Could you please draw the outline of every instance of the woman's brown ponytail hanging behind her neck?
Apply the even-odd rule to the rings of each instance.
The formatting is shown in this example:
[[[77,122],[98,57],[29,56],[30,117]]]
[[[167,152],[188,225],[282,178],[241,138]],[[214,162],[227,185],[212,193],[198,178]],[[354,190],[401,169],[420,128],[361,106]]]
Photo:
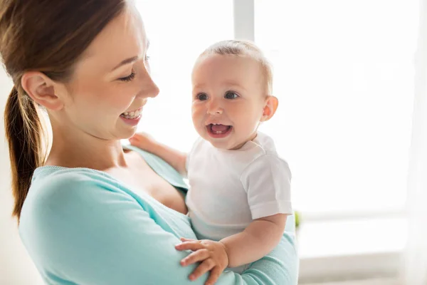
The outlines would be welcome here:
[[[43,164],[42,125],[36,103],[21,87],[12,89],[6,102],[4,125],[9,143],[12,172],[13,216],[21,217],[23,201],[28,194],[33,172]]]

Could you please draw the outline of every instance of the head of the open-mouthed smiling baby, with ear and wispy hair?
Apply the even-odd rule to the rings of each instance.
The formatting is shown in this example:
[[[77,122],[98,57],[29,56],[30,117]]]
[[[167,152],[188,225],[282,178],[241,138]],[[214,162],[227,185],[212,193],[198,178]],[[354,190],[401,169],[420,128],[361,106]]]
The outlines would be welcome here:
[[[272,85],[270,63],[253,43],[214,43],[201,53],[193,69],[194,127],[214,147],[242,147],[278,107]]]

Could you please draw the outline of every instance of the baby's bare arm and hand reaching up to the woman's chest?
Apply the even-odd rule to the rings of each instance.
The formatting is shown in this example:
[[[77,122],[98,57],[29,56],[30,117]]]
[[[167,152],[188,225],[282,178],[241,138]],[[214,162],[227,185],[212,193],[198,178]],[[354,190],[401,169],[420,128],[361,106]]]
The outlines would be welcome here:
[[[137,133],[129,141],[131,145],[162,158],[162,160],[174,167],[179,174],[186,176],[187,154],[185,152],[174,150],[172,147],[157,142],[146,133]]]

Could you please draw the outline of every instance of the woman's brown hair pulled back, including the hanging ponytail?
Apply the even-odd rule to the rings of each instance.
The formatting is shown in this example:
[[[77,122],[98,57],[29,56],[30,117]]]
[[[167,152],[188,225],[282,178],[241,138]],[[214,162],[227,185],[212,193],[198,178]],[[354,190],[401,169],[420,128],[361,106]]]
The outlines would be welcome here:
[[[33,172],[46,157],[39,106],[21,78],[40,71],[53,81],[68,81],[83,51],[125,5],[126,0],[0,0],[0,55],[14,81],[4,124],[18,219]]]

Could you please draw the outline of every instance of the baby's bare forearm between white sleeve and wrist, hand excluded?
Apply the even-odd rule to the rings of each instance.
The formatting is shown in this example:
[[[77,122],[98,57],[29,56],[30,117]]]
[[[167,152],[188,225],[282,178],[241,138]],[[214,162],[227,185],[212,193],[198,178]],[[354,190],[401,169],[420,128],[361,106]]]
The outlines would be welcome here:
[[[228,255],[228,267],[256,261],[271,252],[280,242],[287,214],[255,219],[243,232],[221,239]]]

